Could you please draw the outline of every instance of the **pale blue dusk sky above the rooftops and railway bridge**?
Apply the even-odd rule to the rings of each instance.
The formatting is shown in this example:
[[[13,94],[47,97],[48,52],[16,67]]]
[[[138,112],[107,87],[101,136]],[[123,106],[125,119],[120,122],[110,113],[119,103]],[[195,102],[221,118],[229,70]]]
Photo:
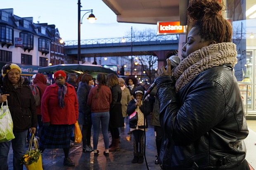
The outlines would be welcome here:
[[[33,22],[55,24],[64,41],[78,40],[77,0],[7,0],[2,1],[0,9],[13,8],[14,15],[33,17]],[[102,0],[81,0],[81,10],[93,9],[97,19],[91,24],[87,18],[90,13],[81,12],[81,40],[115,38],[129,35],[134,30],[155,29],[156,25],[118,23],[116,14]],[[86,11],[87,12],[87,11]]]

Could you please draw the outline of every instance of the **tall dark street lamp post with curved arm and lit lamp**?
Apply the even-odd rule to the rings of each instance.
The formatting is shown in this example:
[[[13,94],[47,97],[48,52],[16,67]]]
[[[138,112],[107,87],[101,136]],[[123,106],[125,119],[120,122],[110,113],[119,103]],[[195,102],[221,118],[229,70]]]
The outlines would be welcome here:
[[[81,21],[83,20],[83,17],[82,17],[82,20],[81,20],[81,11],[89,11],[89,12],[91,12],[91,14],[89,15],[89,17],[87,18],[88,20],[89,20],[89,22],[90,23],[95,23],[95,16],[92,14],[92,9],[88,9],[88,10],[81,10],[81,2],[80,2],[80,0],[78,0],[78,47],[77,47],[77,49],[78,49],[78,52],[77,52],[77,62],[78,62],[78,64],[79,64],[79,61],[80,61],[80,59],[81,59],[81,40],[80,40],[80,38],[81,38],[81,32],[80,32],[80,30],[81,30]],[[89,13],[89,12],[86,12],[85,14],[87,14],[87,13]],[[85,16],[85,14],[83,14],[83,16]]]

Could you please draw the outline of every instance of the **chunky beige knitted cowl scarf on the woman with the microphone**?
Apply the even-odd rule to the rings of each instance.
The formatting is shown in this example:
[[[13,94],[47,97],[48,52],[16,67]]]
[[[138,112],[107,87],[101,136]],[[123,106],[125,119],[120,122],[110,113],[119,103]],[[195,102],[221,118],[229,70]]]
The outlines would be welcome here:
[[[191,53],[173,70],[176,92],[199,73],[215,66],[237,63],[236,45],[232,42],[211,44]]]

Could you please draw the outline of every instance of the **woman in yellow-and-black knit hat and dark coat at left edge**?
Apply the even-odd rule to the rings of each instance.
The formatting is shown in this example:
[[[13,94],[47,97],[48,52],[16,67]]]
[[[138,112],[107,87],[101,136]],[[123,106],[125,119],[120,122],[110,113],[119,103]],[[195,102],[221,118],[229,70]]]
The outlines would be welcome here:
[[[0,102],[8,102],[15,138],[8,142],[0,142],[0,170],[8,169],[7,158],[11,144],[14,153],[13,169],[23,170],[20,158],[25,154],[28,129],[30,133],[36,133],[36,103],[30,87],[24,83],[21,69],[17,64],[9,62],[4,65],[2,77]]]

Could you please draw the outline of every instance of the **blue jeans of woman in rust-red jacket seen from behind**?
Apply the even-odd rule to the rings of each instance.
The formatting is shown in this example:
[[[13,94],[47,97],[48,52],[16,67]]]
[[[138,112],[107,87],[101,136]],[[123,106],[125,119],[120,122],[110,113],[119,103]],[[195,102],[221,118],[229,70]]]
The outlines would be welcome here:
[[[109,112],[92,112],[92,126],[93,126],[93,149],[96,150],[98,146],[100,122],[102,135],[104,138],[105,149],[109,149]]]

